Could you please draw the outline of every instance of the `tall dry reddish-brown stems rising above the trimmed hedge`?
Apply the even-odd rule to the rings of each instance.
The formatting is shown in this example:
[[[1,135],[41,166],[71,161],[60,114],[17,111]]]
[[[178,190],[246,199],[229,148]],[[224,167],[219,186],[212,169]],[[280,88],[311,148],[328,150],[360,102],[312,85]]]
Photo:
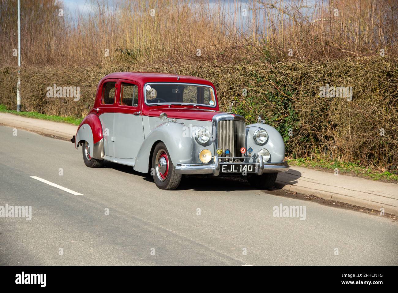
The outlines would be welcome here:
[[[18,42],[16,3],[0,1],[4,65],[17,62],[12,56]],[[122,0],[85,5],[90,12],[76,14],[58,0],[21,1],[22,64],[239,63],[356,58],[378,55],[380,49],[390,56],[397,53],[396,0]]]

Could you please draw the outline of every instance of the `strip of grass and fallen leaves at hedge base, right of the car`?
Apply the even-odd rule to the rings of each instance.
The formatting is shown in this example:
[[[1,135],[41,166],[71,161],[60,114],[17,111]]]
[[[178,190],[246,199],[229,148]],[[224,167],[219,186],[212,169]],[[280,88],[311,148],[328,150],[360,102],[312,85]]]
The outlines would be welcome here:
[[[322,159],[310,160],[308,158],[288,158],[288,161],[291,166],[320,169],[326,172],[336,172],[337,168],[339,174],[346,173],[346,175],[360,176],[371,180],[398,183],[398,174],[394,174],[389,171],[369,169],[354,163],[326,161]]]

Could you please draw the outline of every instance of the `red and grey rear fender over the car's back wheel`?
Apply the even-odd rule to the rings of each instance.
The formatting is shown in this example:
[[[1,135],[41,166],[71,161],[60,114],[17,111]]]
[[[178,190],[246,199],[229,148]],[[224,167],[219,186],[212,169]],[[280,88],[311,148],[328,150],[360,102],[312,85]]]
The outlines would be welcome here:
[[[87,115],[80,123],[75,139],[75,148],[82,141],[87,141],[90,147],[90,156],[101,159],[104,156],[103,133],[101,121],[96,114]]]

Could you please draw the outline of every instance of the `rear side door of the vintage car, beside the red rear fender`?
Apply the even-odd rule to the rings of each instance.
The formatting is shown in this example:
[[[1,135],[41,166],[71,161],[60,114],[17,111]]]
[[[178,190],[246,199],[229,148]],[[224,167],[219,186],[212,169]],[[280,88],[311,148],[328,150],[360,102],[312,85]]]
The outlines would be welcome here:
[[[114,157],[115,97],[117,95],[117,79],[107,79],[101,85],[100,107],[97,112],[102,125],[104,152],[106,156]]]

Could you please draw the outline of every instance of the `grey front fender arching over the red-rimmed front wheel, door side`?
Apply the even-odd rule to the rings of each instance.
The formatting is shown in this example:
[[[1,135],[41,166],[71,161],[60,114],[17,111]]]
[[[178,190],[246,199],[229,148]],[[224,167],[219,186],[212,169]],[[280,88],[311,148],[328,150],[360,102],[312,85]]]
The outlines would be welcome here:
[[[188,134],[188,135],[184,135]],[[181,123],[167,122],[153,129],[142,143],[134,164],[134,170],[142,173],[149,171],[149,160],[155,143],[162,141],[170,154],[174,166],[177,163],[188,164],[199,161],[199,151],[205,148],[196,143],[187,126]],[[211,148],[212,149],[212,148]]]

